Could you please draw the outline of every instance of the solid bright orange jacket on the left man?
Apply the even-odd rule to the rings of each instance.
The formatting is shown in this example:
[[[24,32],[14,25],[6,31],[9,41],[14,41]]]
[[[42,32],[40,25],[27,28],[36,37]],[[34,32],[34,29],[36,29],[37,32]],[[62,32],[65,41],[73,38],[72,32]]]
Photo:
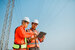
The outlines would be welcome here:
[[[16,44],[25,44],[24,38],[30,37],[30,33],[25,31],[25,28],[21,25],[15,30],[15,39],[14,43]]]

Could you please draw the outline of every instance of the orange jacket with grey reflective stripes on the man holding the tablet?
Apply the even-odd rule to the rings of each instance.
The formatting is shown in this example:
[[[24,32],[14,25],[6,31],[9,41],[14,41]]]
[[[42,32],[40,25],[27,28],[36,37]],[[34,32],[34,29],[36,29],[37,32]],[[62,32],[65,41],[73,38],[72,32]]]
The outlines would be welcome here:
[[[34,38],[34,37],[36,37],[36,36],[39,34],[39,32],[38,32],[37,30],[28,29],[28,31],[29,31],[30,33],[32,33],[32,35],[31,35],[31,37],[30,37],[29,39]],[[36,34],[35,34],[35,33],[36,33]],[[40,39],[40,38],[37,38],[37,39],[35,39],[35,40],[32,40],[31,42],[28,42],[27,47],[28,47],[28,48],[31,48],[31,47],[39,47],[39,44],[38,44],[39,41],[42,42],[43,40]]]

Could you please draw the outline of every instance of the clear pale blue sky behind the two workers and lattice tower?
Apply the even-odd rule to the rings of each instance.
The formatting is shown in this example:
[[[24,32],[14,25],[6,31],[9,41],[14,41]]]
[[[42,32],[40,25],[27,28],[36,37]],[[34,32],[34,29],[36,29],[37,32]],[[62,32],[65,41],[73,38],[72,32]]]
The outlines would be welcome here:
[[[0,0],[0,34],[7,2]],[[40,50],[75,50],[75,0],[15,0],[9,49],[14,43],[14,30],[25,16],[31,22],[38,19],[37,30],[47,32]]]

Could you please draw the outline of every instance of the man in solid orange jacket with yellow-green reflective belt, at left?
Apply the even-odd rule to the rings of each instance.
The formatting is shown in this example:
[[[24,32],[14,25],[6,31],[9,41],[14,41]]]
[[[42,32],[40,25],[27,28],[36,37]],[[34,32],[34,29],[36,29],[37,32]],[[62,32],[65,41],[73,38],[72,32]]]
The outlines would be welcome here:
[[[22,25],[15,29],[13,50],[26,50],[27,38],[30,37],[31,33],[26,32],[25,28],[27,28],[29,22],[30,22],[29,18],[25,17],[22,20]]]

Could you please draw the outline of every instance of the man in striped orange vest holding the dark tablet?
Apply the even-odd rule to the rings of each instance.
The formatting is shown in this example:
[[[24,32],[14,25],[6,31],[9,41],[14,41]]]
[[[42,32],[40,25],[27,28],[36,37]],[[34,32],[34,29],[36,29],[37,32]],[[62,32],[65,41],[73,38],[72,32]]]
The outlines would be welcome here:
[[[32,27],[31,27],[30,29],[27,29],[27,30],[26,30],[26,31],[32,33],[32,35],[31,35],[31,37],[29,38],[29,40],[30,40],[31,38],[36,37],[36,36],[39,34],[39,32],[36,30],[37,25],[38,25],[38,20],[35,19],[35,20],[32,22]],[[45,38],[45,36],[43,36],[43,38],[41,38],[41,39],[40,39],[40,38],[37,38],[37,39],[34,39],[34,40],[32,40],[32,41],[29,41],[27,47],[29,48],[29,50],[39,50],[39,44],[38,44],[38,42],[39,42],[39,41],[40,41],[40,42],[43,42],[44,38]]]

